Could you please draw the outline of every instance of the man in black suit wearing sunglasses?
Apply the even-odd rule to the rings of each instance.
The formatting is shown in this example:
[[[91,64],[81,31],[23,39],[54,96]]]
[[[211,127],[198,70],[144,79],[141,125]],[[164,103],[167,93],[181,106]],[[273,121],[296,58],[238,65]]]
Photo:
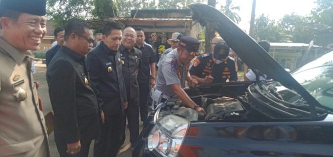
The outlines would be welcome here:
[[[47,68],[60,156],[88,156],[91,140],[100,135],[97,98],[85,68],[93,42],[90,25],[81,19],[69,21],[65,43]]]

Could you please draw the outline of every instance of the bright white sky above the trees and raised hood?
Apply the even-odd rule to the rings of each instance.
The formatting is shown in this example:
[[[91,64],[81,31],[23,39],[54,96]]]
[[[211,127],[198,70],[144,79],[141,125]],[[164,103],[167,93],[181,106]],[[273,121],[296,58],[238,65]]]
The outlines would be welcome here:
[[[219,3],[216,8],[220,9],[221,3],[224,5],[225,0],[217,0]],[[278,21],[285,14],[295,12],[298,15],[309,15],[311,10],[316,7],[315,0],[257,0],[256,1],[256,17],[264,13],[269,19]],[[237,11],[241,16],[241,22],[238,24],[240,28],[249,32],[252,0],[232,0],[234,6],[240,6]]]

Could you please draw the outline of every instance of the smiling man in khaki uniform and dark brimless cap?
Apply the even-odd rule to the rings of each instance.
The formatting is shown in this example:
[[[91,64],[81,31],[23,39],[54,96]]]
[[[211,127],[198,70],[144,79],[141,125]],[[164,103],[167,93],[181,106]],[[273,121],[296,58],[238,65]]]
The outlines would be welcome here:
[[[46,33],[46,0],[0,0],[0,156],[50,156],[31,71]]]

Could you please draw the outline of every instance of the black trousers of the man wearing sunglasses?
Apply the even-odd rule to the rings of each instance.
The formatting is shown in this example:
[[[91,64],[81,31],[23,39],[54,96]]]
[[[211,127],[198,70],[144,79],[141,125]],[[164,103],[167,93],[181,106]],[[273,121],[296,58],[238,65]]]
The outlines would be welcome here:
[[[81,139],[81,150],[79,153],[75,155],[68,154],[67,151],[67,143],[65,142],[56,142],[57,149],[60,157],[88,157],[89,155],[89,147],[91,140]]]

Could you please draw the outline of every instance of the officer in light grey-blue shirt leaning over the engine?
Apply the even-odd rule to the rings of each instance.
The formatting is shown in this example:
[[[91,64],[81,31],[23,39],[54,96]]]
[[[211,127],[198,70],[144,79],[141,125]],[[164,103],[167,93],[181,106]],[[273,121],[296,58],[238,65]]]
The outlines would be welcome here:
[[[197,105],[183,89],[185,80],[192,87],[198,84],[198,81],[193,79],[187,70],[190,61],[201,54],[198,49],[198,39],[183,36],[180,39],[179,47],[163,57],[157,71],[156,88],[153,93],[153,99],[156,103],[177,95],[187,107],[206,114],[205,110]]]

